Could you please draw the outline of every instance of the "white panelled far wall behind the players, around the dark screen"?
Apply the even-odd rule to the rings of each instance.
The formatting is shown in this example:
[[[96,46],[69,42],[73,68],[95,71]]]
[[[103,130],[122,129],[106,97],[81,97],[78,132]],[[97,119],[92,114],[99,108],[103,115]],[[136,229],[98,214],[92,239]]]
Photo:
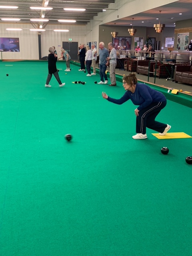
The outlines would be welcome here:
[[[22,28],[21,31],[8,31],[6,28]],[[19,38],[20,52],[3,52],[2,58],[8,60],[38,60],[38,32],[30,31],[34,28],[32,24],[22,23],[3,23],[0,22],[0,37]],[[86,26],[85,25],[47,25],[46,31],[41,32],[41,56],[48,55],[50,46],[55,46],[58,54],[62,48],[62,42],[68,42],[72,38],[72,42],[86,44]],[[69,32],[54,32],[54,29],[68,29]],[[58,48],[58,45],[61,47]],[[78,51],[78,49],[77,49]]]

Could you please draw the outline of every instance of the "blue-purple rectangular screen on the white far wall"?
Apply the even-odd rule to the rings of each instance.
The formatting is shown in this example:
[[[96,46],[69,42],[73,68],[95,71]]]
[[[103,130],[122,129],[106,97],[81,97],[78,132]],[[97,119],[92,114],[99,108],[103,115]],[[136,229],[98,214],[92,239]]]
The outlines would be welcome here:
[[[19,38],[0,37],[0,50],[4,52],[20,52]]]

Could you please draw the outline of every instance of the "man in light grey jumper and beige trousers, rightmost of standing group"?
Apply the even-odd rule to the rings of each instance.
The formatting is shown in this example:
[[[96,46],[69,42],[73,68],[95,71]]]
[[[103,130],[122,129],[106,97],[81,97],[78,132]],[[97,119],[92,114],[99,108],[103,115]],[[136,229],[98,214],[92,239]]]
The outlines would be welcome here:
[[[110,50],[110,55],[107,60],[110,63],[110,80],[111,84],[109,86],[116,86],[116,76],[115,76],[115,68],[117,66],[117,52],[114,48],[113,43],[108,43],[108,49]]]

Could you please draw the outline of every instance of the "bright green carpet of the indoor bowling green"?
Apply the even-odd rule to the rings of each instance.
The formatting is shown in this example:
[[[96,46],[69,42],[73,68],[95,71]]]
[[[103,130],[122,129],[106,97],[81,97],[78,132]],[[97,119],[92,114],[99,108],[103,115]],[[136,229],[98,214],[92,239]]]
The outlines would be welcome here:
[[[101,96],[120,98],[122,76],[70,68],[46,88],[47,61],[0,62],[2,255],[189,256],[192,140],[133,140],[136,106]],[[192,135],[192,96],[148,84],[168,98],[157,119]]]

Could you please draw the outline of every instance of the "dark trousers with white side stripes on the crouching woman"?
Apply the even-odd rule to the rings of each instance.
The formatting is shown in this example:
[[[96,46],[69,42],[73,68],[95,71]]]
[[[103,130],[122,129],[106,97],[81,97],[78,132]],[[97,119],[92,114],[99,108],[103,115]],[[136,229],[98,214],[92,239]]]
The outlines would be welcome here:
[[[146,127],[157,132],[164,132],[167,124],[155,121],[156,116],[166,106],[167,101],[153,102],[138,112],[136,117],[136,133],[146,134]]]

